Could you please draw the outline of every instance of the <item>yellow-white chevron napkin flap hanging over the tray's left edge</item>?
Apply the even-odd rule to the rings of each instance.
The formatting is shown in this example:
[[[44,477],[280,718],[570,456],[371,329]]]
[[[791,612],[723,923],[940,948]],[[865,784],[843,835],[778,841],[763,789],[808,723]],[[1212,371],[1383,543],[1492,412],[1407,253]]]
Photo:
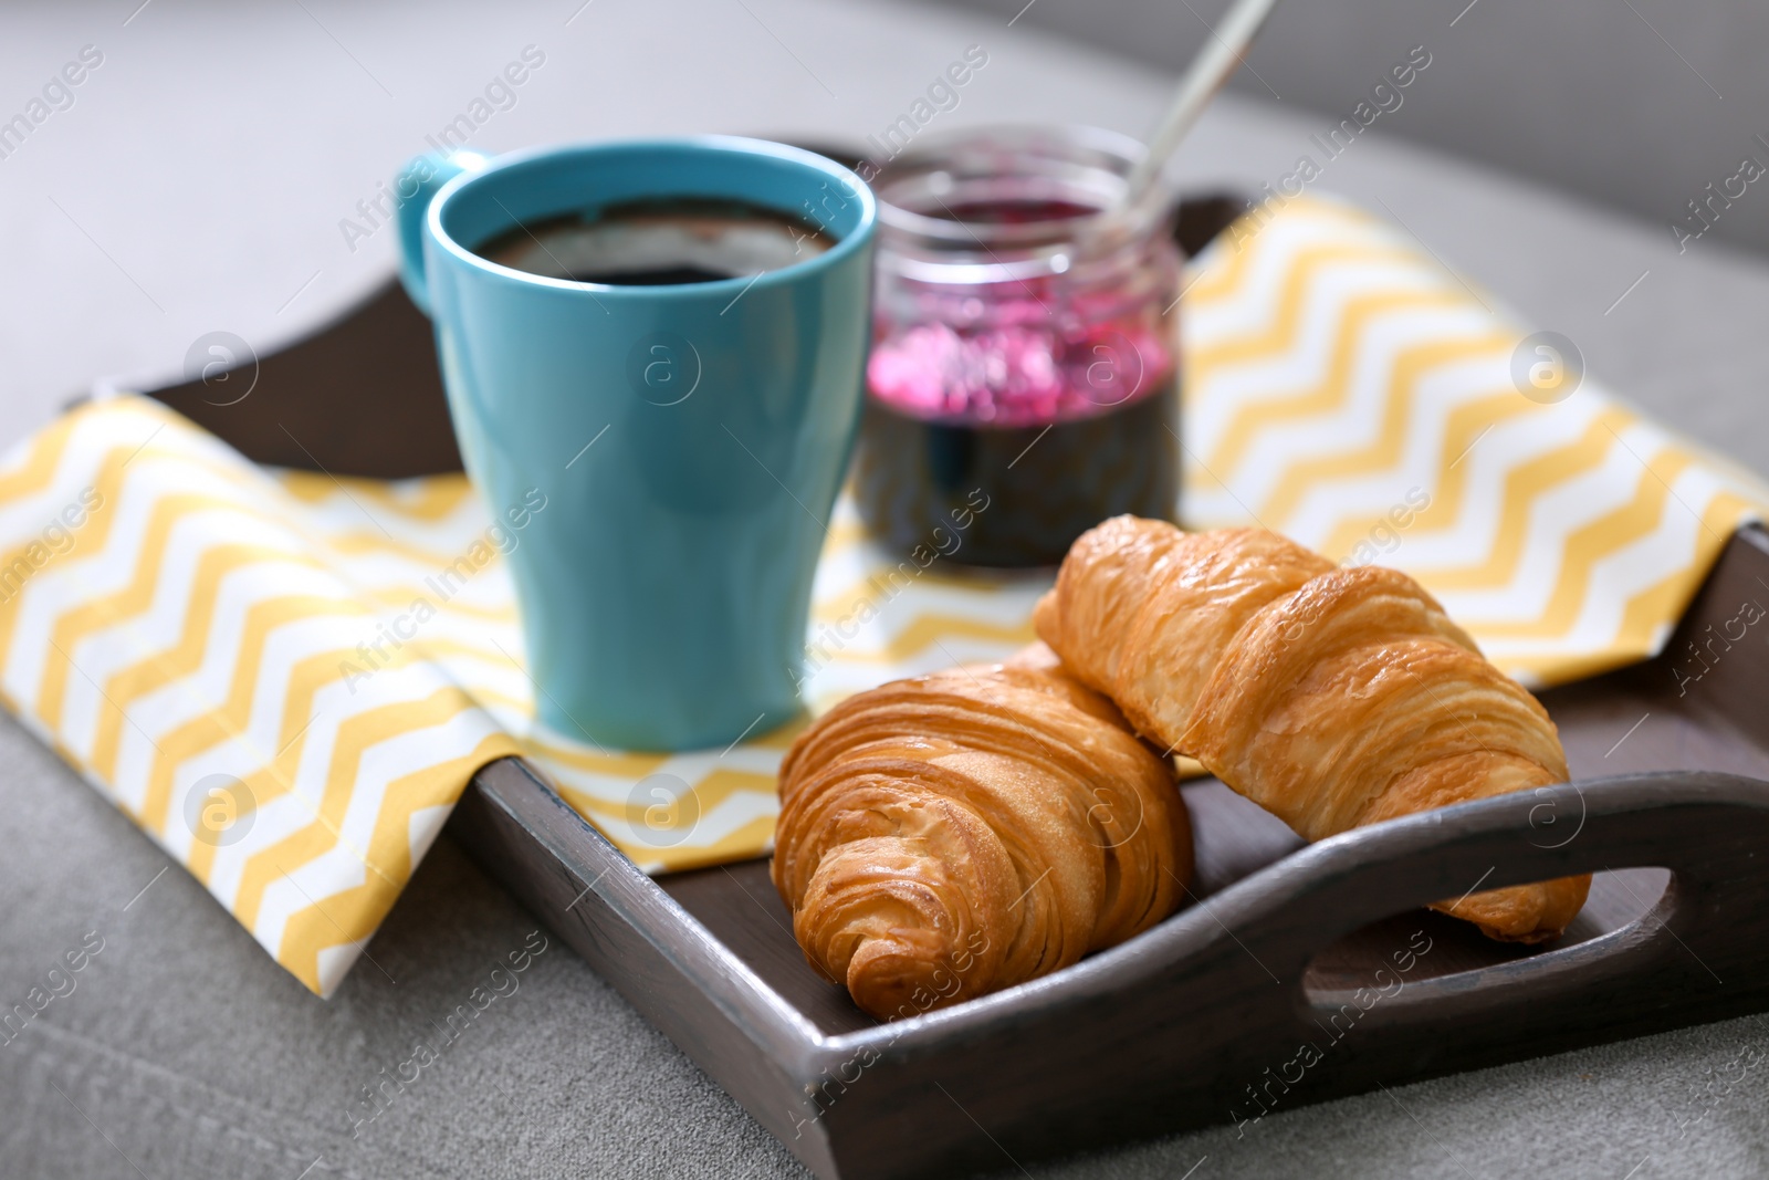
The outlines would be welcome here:
[[[421,517],[387,522],[377,548],[409,563]],[[518,748],[430,662],[345,681],[379,619],[343,556],[276,479],[143,398],[0,464],[5,706],[322,994],[472,771]]]

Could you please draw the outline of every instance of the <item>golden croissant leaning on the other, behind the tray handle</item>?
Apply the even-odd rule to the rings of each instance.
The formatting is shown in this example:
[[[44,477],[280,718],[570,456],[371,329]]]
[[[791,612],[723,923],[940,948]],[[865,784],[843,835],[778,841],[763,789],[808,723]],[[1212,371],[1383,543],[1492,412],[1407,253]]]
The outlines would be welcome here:
[[[1107,520],[1068,550],[1035,624],[1139,732],[1307,840],[1567,778],[1546,709],[1417,582],[1265,529]],[[1535,943],[1589,888],[1562,877],[1436,909]]]

